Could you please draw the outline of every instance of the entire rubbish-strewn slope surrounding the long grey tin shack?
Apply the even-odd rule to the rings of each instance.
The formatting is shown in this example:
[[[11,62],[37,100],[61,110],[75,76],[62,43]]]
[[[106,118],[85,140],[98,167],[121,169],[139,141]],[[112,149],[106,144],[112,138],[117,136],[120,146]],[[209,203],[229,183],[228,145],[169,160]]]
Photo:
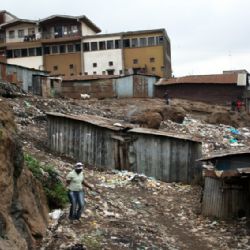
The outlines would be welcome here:
[[[41,162],[56,166],[63,179],[73,161],[46,147],[48,111],[87,113],[134,123],[141,121],[142,113],[159,113],[161,130],[201,139],[204,155],[217,150],[246,150],[250,143],[247,119],[240,119],[246,114],[230,113],[227,107],[172,100],[170,108],[176,110],[178,117],[184,114],[180,122],[177,116],[164,114],[166,105],[160,99],[1,99],[14,110],[24,150]],[[224,114],[221,118],[228,122],[208,123],[208,119],[218,122],[215,110]],[[158,182],[129,172],[85,169],[85,175],[98,192],[86,191],[87,204],[81,221],[70,223],[66,208],[59,221],[51,219],[47,237],[39,248],[250,249],[250,224],[246,218],[226,222],[201,216],[200,187]]]

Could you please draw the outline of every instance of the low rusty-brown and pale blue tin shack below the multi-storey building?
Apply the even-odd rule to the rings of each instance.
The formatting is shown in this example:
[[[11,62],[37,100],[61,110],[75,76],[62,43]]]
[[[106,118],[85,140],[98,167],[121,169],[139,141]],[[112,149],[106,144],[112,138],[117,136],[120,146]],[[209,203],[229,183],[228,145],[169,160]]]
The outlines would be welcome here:
[[[76,99],[80,94],[94,98],[153,97],[157,79],[156,76],[139,74],[64,77],[61,95]]]

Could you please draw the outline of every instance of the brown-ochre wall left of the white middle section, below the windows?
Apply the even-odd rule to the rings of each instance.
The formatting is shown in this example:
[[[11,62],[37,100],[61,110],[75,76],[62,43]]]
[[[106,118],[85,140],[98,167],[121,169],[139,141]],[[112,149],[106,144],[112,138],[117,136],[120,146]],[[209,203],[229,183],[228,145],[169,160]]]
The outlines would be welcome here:
[[[70,65],[73,64],[73,68]],[[55,70],[57,66],[57,70]],[[44,55],[44,69],[53,75],[79,75],[81,72],[81,54],[53,54]]]

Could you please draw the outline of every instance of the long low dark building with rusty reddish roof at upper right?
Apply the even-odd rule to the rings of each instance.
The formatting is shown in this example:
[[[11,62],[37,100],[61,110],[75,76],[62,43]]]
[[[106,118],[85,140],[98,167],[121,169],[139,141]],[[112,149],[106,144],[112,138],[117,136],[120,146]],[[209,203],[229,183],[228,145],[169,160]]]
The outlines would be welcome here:
[[[155,96],[162,98],[168,91],[170,98],[231,105],[244,96],[246,73],[238,71],[223,74],[190,75],[160,79],[155,83]]]

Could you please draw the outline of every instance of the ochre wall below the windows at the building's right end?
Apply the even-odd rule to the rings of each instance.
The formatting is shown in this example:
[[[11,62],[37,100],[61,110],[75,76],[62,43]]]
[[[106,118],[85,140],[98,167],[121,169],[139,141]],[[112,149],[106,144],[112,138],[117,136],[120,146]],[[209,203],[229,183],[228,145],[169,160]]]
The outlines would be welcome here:
[[[150,46],[141,48],[125,48],[124,49],[124,66],[125,69],[144,68],[146,67],[147,74],[155,74],[163,77],[161,67],[164,67],[163,46]],[[150,58],[154,58],[154,62],[150,62]],[[138,60],[134,64],[134,59]],[[155,71],[152,68],[155,68]]]

